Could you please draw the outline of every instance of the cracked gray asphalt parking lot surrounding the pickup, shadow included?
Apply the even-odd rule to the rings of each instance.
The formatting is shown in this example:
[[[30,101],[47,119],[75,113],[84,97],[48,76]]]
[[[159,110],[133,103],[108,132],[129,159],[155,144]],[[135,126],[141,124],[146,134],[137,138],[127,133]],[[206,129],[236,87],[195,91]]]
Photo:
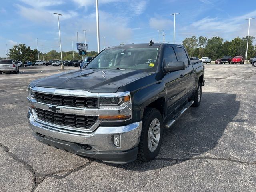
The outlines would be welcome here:
[[[205,68],[200,107],[165,131],[155,160],[126,165],[82,158],[30,134],[27,86],[60,67],[0,75],[0,191],[256,191],[256,68]]]

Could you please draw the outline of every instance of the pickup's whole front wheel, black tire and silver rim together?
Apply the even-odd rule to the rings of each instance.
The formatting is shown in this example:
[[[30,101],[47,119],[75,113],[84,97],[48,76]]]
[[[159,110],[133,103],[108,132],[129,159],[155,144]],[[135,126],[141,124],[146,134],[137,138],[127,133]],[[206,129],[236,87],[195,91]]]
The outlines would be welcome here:
[[[163,119],[155,108],[146,108],[142,120],[142,131],[138,151],[138,160],[150,161],[160,150],[163,138]]]

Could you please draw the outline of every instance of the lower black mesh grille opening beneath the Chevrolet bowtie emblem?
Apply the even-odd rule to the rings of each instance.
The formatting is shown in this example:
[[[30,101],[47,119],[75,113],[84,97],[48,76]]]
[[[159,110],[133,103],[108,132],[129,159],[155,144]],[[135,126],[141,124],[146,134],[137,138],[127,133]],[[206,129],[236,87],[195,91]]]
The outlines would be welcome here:
[[[64,113],[54,113],[36,108],[38,118],[44,122],[56,125],[89,129],[98,119],[98,116],[82,116]]]

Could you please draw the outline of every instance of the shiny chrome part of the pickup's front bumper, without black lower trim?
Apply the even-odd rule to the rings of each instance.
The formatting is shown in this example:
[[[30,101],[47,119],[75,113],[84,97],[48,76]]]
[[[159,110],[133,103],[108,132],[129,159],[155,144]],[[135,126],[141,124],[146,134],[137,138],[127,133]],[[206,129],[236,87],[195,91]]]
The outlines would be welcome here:
[[[100,152],[122,152],[136,147],[140,141],[142,121],[120,127],[98,127],[88,134],[70,134],[66,131],[57,131],[54,124],[42,124],[37,122],[28,112],[28,123],[33,132],[56,138],[63,141],[90,145]],[[112,143],[112,135],[120,135],[120,147]]]

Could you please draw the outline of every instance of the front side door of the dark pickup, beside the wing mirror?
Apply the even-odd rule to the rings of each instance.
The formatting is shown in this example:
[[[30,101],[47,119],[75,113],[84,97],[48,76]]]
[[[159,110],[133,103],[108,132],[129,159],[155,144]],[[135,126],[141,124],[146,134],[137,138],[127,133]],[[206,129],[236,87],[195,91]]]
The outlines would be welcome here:
[[[174,48],[166,47],[164,50],[164,66],[168,66],[169,62],[177,61]],[[170,114],[182,102],[182,92],[184,92],[184,79],[180,76],[184,70],[169,72],[164,76],[167,91],[167,114]]]

